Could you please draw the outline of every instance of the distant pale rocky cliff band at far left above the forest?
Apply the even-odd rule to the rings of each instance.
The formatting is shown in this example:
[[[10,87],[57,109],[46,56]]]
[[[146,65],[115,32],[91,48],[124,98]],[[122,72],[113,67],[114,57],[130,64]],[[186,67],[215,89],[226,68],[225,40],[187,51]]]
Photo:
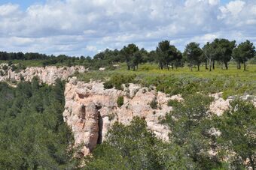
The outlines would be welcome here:
[[[69,76],[72,76],[75,72],[84,73],[84,66],[74,66],[74,67],[27,67],[25,70],[20,72],[15,72],[11,70],[11,67],[8,67],[7,70],[3,70],[5,64],[0,66],[0,70],[5,75],[0,76],[0,82],[6,80],[16,80],[20,81],[24,79],[25,81],[31,81],[34,76],[38,76],[41,82],[47,84],[54,84],[56,79],[68,79]]]

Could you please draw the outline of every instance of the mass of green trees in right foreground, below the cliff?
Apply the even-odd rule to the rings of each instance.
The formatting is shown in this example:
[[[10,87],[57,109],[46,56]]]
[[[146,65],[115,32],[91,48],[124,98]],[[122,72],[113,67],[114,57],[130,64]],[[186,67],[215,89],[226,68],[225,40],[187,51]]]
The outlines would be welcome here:
[[[93,151],[93,157],[86,158],[84,168],[254,169],[256,108],[236,100],[233,109],[215,118],[208,112],[211,101],[211,97],[194,94],[175,103],[162,119],[172,130],[169,142],[157,139],[139,118],[129,126],[114,124],[107,140]]]

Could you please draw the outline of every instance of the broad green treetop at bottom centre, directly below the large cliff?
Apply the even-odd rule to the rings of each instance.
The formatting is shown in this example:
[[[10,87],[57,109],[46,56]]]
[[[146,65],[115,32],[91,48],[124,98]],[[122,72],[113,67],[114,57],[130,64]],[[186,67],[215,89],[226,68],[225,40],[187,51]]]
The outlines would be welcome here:
[[[110,154],[111,153],[111,154]],[[178,161],[177,161],[178,160]],[[129,126],[114,124],[107,139],[86,158],[84,169],[195,169],[182,148],[162,142],[134,118]]]

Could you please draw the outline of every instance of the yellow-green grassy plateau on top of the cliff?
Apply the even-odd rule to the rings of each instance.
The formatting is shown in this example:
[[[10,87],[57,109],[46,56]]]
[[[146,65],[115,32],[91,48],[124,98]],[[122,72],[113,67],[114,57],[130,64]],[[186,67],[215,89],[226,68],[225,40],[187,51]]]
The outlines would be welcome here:
[[[117,70],[104,72],[90,71],[81,73],[78,79],[89,82],[90,79],[107,81],[114,75],[132,76],[136,74],[133,82],[149,87],[154,85],[158,91],[166,94],[191,94],[195,92],[216,93],[224,92],[224,98],[236,94],[256,94],[256,64],[248,64],[247,71],[237,70],[230,64],[228,70],[221,70],[218,65],[209,72],[202,66],[200,71],[194,68],[179,67],[177,70],[159,70],[157,64],[139,65],[139,70],[126,70],[125,64],[120,64]]]

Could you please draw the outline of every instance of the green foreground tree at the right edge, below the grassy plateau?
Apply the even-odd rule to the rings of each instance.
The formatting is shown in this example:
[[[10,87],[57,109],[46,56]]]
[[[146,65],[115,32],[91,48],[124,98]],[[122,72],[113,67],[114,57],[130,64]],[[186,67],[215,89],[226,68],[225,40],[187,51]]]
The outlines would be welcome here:
[[[234,151],[233,166],[242,166],[247,160],[256,167],[256,108],[252,103],[234,100],[232,109],[220,118],[215,118],[216,128],[221,130],[218,143],[226,155]]]

